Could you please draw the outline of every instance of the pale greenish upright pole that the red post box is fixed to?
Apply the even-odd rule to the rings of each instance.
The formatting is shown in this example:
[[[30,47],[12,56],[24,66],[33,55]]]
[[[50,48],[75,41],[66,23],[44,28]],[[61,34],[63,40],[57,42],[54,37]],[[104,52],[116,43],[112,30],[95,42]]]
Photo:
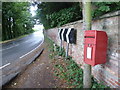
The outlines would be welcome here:
[[[91,0],[83,0],[83,28],[91,30]],[[84,64],[83,87],[91,88],[91,66]]]

